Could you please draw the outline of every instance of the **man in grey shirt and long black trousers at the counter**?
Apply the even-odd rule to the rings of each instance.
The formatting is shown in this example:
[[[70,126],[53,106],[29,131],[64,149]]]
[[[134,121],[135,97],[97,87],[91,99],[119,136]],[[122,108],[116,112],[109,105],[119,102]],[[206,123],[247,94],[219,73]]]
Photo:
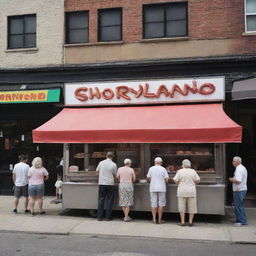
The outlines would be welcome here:
[[[98,213],[97,217],[99,221],[104,217],[104,205],[106,203],[106,221],[111,220],[111,214],[114,204],[114,192],[115,192],[115,176],[117,172],[117,166],[113,162],[114,153],[108,152],[106,159],[101,161],[96,169],[99,172],[99,194],[98,194]]]

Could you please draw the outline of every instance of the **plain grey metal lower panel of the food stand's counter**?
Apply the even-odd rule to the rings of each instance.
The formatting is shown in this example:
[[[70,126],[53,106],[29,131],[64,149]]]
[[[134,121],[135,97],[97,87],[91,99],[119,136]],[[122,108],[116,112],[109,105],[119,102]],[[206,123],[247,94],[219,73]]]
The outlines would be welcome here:
[[[118,186],[116,187],[118,188]],[[118,193],[116,189],[114,209],[118,206]],[[177,185],[168,184],[166,193],[165,212],[178,212]],[[64,182],[63,207],[71,209],[97,209],[98,184],[89,182]],[[76,196],[74,196],[76,195]],[[213,204],[214,202],[214,204]],[[224,215],[225,185],[197,185],[198,213]],[[134,205],[132,211],[151,211],[149,198],[149,184],[134,184]]]

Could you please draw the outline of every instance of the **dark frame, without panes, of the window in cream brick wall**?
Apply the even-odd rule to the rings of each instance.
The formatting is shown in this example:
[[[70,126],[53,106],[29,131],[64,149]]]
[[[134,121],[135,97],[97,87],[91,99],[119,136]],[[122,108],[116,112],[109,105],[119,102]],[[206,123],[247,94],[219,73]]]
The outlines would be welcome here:
[[[25,19],[27,17],[35,17],[35,28],[37,28],[37,15],[36,14],[25,14],[25,15],[13,15],[13,16],[8,16],[7,17],[7,49],[26,49],[26,48],[36,48],[36,44],[37,44],[37,32],[35,29],[35,32],[33,33],[26,33],[25,32]],[[11,20],[14,19],[22,19],[22,33],[11,33]],[[11,37],[14,35],[19,35],[23,37],[23,44],[21,47],[10,47],[10,42],[11,42]],[[25,46],[25,39],[26,39],[26,35],[35,35],[35,45],[34,46]]]

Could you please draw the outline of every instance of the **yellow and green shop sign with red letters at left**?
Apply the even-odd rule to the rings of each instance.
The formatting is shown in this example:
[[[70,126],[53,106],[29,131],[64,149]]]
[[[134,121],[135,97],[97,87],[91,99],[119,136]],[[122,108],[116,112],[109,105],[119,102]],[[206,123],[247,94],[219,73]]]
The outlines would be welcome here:
[[[60,89],[0,91],[0,103],[59,102]]]

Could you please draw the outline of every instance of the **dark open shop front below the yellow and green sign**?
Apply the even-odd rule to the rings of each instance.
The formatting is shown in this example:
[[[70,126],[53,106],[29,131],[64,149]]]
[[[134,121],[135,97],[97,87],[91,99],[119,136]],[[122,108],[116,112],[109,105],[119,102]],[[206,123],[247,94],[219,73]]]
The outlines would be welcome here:
[[[12,170],[20,154],[28,155],[28,164],[34,157],[43,159],[50,177],[46,195],[54,195],[57,170],[63,154],[61,144],[34,144],[32,130],[59,111],[53,104],[1,105],[0,120],[0,194],[13,194]]]

